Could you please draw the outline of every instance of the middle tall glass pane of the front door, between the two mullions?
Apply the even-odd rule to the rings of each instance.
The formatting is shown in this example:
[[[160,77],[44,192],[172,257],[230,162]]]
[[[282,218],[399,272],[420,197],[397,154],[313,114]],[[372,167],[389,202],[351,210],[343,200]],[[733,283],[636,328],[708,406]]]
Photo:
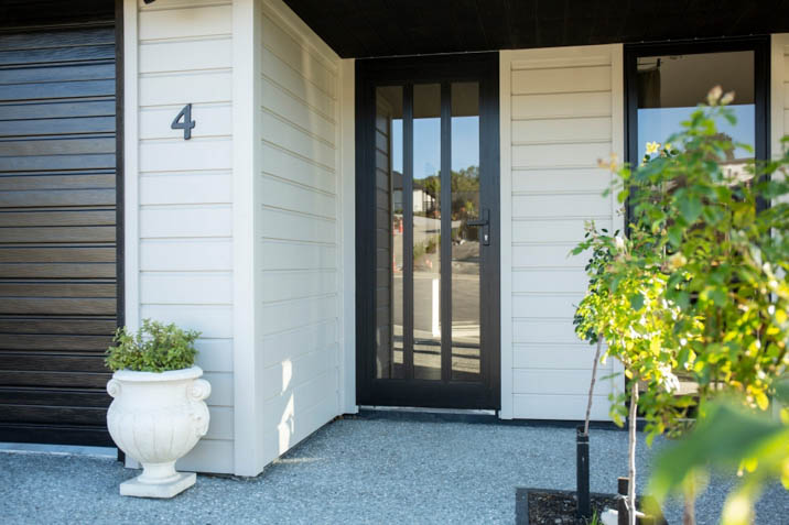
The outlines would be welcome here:
[[[441,85],[413,87],[413,374],[441,380]]]

